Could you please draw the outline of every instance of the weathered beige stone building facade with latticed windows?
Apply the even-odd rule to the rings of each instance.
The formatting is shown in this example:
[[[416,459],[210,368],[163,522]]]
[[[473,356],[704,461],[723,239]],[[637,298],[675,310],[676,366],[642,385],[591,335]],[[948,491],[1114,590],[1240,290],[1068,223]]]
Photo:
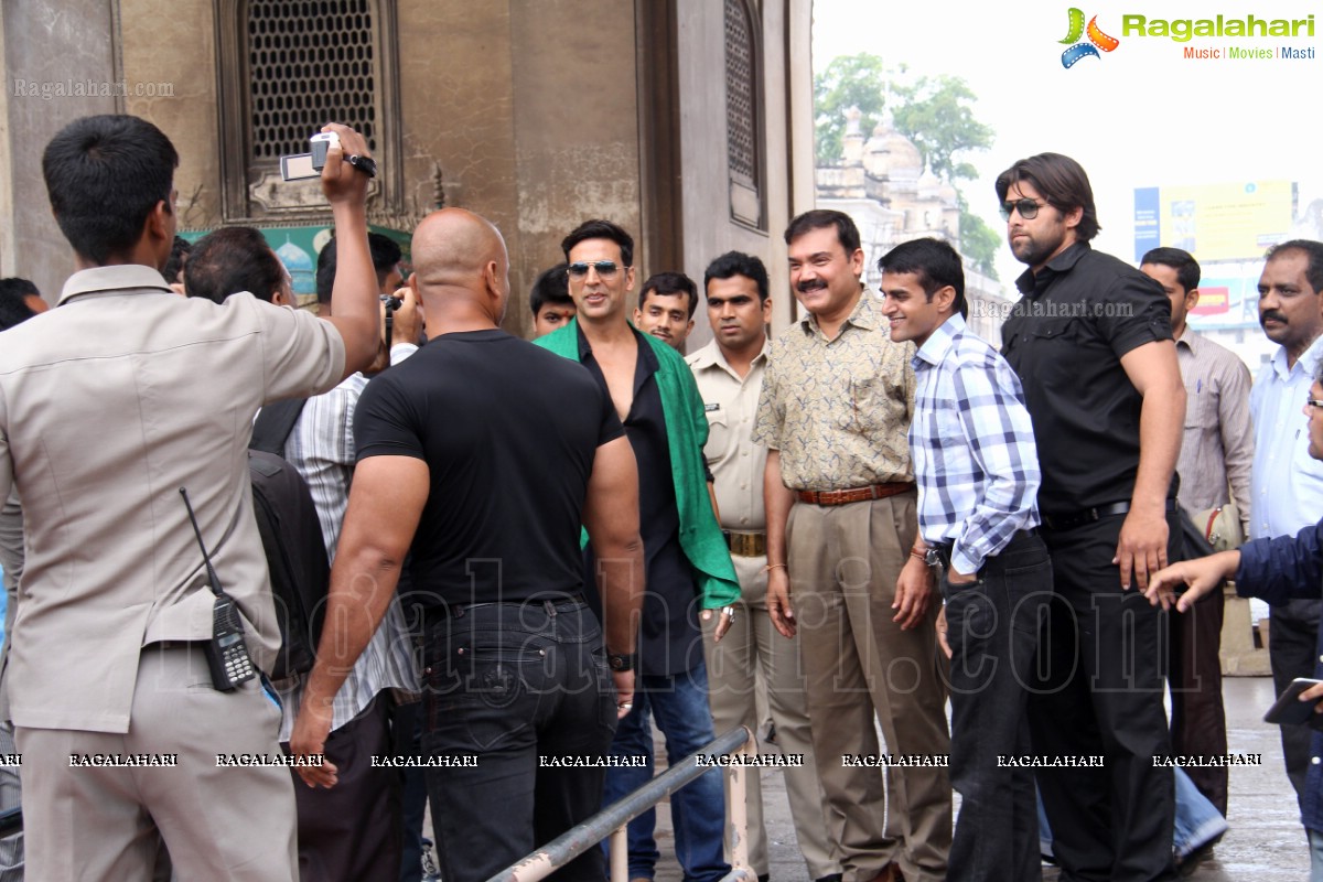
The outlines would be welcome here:
[[[516,333],[531,328],[523,292],[594,216],[635,234],[640,280],[759,255],[779,325],[781,233],[814,202],[811,13],[811,0],[5,0],[0,272],[53,298],[73,270],[40,159],[79,115],[136,114],[169,135],[181,229],[269,238],[328,222],[316,184],[280,181],[278,156],[337,119],[370,130],[381,160],[372,223],[407,233],[445,204],[501,229]]]

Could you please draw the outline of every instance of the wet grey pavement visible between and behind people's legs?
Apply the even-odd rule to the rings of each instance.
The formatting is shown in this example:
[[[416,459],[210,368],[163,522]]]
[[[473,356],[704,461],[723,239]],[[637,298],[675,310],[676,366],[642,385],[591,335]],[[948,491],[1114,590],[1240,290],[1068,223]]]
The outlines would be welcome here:
[[[1213,856],[1188,878],[1195,882],[1301,882],[1308,877],[1308,850],[1299,824],[1295,793],[1282,766],[1282,744],[1275,726],[1262,722],[1273,703],[1273,682],[1266,677],[1237,677],[1224,681],[1226,700],[1228,748],[1233,754],[1262,754],[1263,764],[1234,766],[1230,770],[1230,829]],[[878,735],[881,739],[881,735]],[[658,734],[658,746],[662,746]],[[664,752],[664,751],[663,751]],[[771,840],[773,882],[808,882],[808,873],[795,846],[795,830],[781,775],[762,776],[767,836]],[[663,860],[658,882],[679,882],[675,840],[668,809],[658,812],[658,845]],[[1057,871],[1045,867],[1044,879],[1054,882]]]

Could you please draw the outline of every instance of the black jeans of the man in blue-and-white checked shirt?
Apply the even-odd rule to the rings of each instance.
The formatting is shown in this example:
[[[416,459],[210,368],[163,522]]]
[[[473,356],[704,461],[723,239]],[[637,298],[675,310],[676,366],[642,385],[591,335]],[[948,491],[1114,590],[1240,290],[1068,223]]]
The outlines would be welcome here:
[[[951,644],[951,787],[960,815],[950,882],[1043,878],[1028,698],[1040,620],[1052,600],[1043,540],[1016,533],[972,584],[942,578]]]

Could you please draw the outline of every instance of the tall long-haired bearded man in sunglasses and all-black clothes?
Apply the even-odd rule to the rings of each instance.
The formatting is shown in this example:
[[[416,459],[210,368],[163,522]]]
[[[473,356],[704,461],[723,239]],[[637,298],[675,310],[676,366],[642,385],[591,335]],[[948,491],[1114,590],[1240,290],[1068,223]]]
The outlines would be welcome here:
[[[1172,874],[1175,792],[1164,629],[1143,590],[1180,537],[1176,455],[1185,390],[1171,304],[1148,276],[1089,246],[1089,177],[1040,153],[996,180],[1021,298],[1002,328],[1039,447],[1039,509],[1054,596],[1032,682],[1033,751],[1053,849],[1070,879]],[[1103,756],[1097,767],[1086,758]]]

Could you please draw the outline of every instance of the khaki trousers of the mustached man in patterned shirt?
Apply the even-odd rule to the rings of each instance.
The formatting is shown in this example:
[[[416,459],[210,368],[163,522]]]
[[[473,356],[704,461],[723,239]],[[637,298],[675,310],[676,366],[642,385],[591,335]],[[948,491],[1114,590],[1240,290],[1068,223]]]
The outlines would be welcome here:
[[[950,754],[947,677],[934,632],[941,596],[934,588],[917,627],[892,621],[896,579],[914,542],[914,502],[905,493],[790,510],[787,562],[814,755],[844,882],[869,882],[890,861],[909,882],[937,882],[951,849],[945,767],[888,767],[884,775],[843,762],[878,754],[875,714],[889,754],[937,762]]]

